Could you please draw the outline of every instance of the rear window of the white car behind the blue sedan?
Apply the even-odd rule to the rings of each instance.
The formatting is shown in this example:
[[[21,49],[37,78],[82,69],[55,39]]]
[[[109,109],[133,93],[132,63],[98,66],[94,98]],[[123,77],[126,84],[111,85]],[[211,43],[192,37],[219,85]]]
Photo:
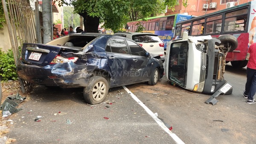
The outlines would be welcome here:
[[[157,43],[161,42],[160,38],[157,35],[134,35],[132,40],[139,43]]]

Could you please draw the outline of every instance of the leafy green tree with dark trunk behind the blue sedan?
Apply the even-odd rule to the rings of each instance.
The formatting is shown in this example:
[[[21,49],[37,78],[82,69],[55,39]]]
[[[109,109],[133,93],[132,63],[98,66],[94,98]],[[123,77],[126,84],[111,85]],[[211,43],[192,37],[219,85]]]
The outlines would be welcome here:
[[[65,0],[54,1],[66,3]],[[177,0],[70,0],[74,12],[84,18],[86,32],[98,32],[100,19],[105,22],[105,28],[115,31],[123,27],[127,15],[136,20],[138,16],[148,17],[162,12],[165,6],[172,8],[176,4]]]

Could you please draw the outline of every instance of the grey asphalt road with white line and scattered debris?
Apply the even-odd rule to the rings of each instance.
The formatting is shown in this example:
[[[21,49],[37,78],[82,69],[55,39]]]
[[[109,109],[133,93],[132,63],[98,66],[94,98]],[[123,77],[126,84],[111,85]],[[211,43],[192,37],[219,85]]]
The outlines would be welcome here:
[[[24,95],[27,100],[19,106],[24,109],[10,117],[14,124],[6,136],[17,144],[255,144],[256,104],[242,96],[246,69],[227,66],[224,76],[233,94],[218,96],[214,106],[204,103],[210,95],[172,86],[166,78],[156,86],[126,86],[141,102],[118,87],[106,99],[113,103],[95,106],[85,104],[82,89],[36,86]],[[144,104],[172,127],[170,133]],[[37,116],[40,121],[34,121]]]

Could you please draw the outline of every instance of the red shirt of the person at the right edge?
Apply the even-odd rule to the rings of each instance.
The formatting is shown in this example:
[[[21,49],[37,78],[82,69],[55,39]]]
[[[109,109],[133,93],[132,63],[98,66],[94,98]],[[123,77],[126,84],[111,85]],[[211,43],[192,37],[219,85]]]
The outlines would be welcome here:
[[[256,43],[250,45],[247,53],[250,53],[247,67],[250,69],[256,69]]]

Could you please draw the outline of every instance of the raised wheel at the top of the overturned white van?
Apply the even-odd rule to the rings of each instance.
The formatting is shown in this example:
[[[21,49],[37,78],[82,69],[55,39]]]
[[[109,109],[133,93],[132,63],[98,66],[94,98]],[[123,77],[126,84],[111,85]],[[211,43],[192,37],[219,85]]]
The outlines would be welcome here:
[[[238,41],[233,35],[221,35],[218,37],[218,40],[221,40],[221,44],[224,45],[224,48],[228,49],[228,52],[232,52],[238,46]]]

